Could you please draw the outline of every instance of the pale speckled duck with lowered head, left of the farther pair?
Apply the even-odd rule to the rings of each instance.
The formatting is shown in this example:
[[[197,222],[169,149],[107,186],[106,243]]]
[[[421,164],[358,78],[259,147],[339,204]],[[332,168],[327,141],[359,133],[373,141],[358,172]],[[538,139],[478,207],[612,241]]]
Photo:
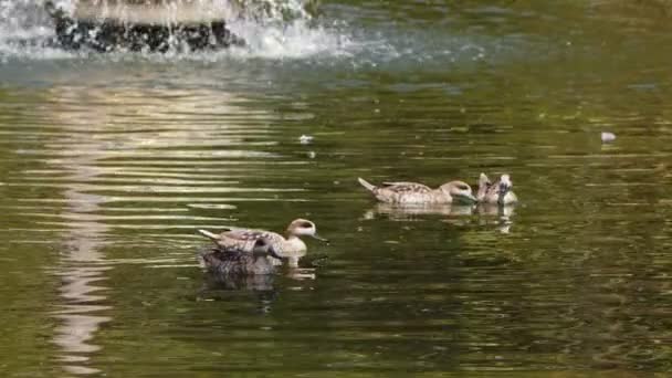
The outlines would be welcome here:
[[[476,198],[471,187],[463,181],[450,181],[438,189],[418,182],[382,182],[376,187],[363,178],[359,183],[374,193],[379,201],[388,203],[474,203]]]

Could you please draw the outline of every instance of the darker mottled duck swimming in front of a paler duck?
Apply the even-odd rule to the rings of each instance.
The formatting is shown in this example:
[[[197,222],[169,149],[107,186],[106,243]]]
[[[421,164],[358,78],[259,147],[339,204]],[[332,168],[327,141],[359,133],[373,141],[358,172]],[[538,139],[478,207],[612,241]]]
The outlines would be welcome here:
[[[275,265],[269,259],[281,259],[266,239],[256,239],[251,251],[237,246],[219,246],[200,253],[200,262],[208,271],[221,275],[273,274]]]

